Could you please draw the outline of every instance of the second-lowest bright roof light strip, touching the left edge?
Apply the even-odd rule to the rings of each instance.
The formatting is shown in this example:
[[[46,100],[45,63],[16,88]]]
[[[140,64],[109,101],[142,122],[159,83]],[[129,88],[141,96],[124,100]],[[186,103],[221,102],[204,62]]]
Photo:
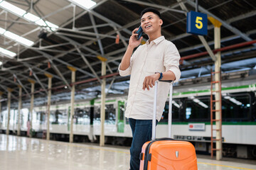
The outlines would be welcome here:
[[[6,38],[14,40],[22,45],[25,45],[25,46],[30,47],[34,43],[33,41],[23,38],[20,35],[16,35],[15,33],[11,33],[9,30],[5,30],[4,28],[0,28],[0,34],[4,35]]]

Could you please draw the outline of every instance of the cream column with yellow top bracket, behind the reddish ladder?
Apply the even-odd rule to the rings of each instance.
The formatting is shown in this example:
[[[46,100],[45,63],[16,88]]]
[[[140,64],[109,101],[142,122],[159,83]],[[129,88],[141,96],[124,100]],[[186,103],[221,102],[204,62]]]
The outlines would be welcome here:
[[[214,48],[219,49],[220,48],[220,26],[222,23],[220,21],[216,20],[213,17],[208,18],[211,23],[214,25]],[[215,71],[213,74],[215,74],[215,81],[212,81],[212,84],[215,84],[215,109],[211,109],[211,113],[215,112],[215,119],[213,119],[213,115],[211,115],[211,124],[213,124],[213,121],[215,122],[215,129],[213,129],[213,125],[211,125],[211,132],[213,134],[213,130],[216,131],[216,138],[213,139],[213,135],[211,137],[211,143],[212,143],[212,157],[213,157],[213,151],[216,151],[216,160],[222,159],[222,106],[221,106],[221,55],[220,52],[217,52],[215,54],[217,60],[215,61]],[[213,107],[213,103],[211,103],[211,108]],[[215,140],[216,147],[213,149],[213,140]]]

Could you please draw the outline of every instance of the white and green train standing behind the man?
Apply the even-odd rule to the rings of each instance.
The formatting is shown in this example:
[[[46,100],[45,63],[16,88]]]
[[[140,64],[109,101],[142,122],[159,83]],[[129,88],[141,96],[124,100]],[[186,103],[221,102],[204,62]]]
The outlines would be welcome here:
[[[223,156],[256,159],[256,84],[248,81],[223,81],[222,137]],[[168,99],[169,100],[169,99]],[[156,127],[156,137],[168,136],[169,101]],[[127,94],[108,96],[105,101],[105,142],[127,145],[132,131],[124,112]],[[73,116],[74,141],[99,142],[100,98],[75,102]],[[174,86],[171,134],[175,140],[186,140],[196,152],[210,154],[210,83]],[[4,108],[4,107],[3,107]],[[21,132],[27,135],[30,108],[21,109]],[[70,103],[50,105],[50,139],[68,142]],[[18,109],[11,108],[11,132],[16,133]],[[0,129],[6,130],[7,109],[1,111]],[[46,137],[46,105],[33,108],[33,136]],[[215,126],[215,125],[213,125]],[[215,133],[213,133],[213,136]]]

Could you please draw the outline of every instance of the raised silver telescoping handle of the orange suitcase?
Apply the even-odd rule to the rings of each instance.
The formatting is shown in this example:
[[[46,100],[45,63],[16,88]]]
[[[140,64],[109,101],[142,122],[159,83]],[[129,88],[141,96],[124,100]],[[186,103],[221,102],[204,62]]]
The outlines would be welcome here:
[[[161,82],[170,83],[170,96],[169,96],[169,115],[168,115],[168,137],[171,138],[171,108],[172,108],[172,91],[173,91],[173,81],[171,80],[159,80]],[[152,120],[152,140],[156,139],[156,101],[157,101],[157,89],[158,89],[158,83],[159,81],[156,81],[155,83],[155,91],[154,91],[154,115]]]

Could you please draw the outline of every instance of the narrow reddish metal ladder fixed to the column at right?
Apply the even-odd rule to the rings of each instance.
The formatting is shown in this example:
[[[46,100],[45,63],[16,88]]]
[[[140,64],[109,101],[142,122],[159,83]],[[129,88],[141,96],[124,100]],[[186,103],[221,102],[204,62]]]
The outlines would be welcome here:
[[[213,78],[213,76],[217,74],[218,75],[218,79],[216,80],[215,78]],[[222,153],[222,105],[221,105],[221,71],[220,72],[212,72],[210,74],[210,148],[211,148],[211,152],[210,152],[210,156],[213,158],[213,152],[214,151],[220,151]],[[216,85],[213,88],[213,85]],[[215,95],[216,94],[216,95]],[[216,98],[218,94],[218,98]],[[213,95],[215,95],[215,98],[213,99]],[[216,108],[216,106],[219,106],[218,108]],[[215,118],[213,118],[213,114],[215,113]],[[219,116],[216,116],[217,114],[219,114]],[[216,118],[219,117],[219,118]],[[213,123],[215,123],[215,129],[213,129]],[[220,124],[219,127],[217,128],[217,124]],[[213,131],[216,131],[216,137],[213,137]],[[217,133],[219,133],[220,137],[217,137]],[[220,148],[217,149],[216,145],[215,147],[213,147],[213,142],[216,143],[219,142]]]

